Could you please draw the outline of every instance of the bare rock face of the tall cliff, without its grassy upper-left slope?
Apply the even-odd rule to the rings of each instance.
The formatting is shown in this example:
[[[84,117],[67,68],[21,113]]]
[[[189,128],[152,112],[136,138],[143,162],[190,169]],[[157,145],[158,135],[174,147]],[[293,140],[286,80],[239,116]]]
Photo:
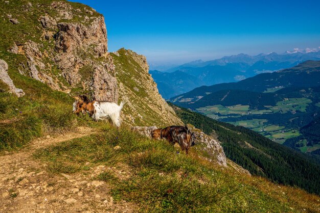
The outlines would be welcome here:
[[[50,11],[38,17],[42,35],[35,36],[39,38],[14,43],[8,49],[26,57],[19,72],[73,96],[85,93],[118,103],[104,17],[88,7],[74,8],[58,1],[50,5]]]

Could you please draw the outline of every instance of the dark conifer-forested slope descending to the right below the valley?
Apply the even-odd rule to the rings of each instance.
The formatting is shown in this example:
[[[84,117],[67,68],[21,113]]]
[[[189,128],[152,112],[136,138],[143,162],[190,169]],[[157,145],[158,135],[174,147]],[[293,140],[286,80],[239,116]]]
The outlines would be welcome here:
[[[226,156],[250,173],[320,193],[320,165],[309,156],[244,127],[218,122],[183,108],[174,107],[174,110],[182,121],[214,135]]]

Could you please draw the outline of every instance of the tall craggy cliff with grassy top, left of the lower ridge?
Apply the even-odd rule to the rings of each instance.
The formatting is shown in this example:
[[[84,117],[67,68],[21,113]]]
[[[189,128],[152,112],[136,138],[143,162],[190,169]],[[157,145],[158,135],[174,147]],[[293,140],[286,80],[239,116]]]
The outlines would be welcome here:
[[[2,49],[16,71],[70,95],[118,102],[102,15],[66,1],[10,1],[1,10],[1,34],[10,37]]]

